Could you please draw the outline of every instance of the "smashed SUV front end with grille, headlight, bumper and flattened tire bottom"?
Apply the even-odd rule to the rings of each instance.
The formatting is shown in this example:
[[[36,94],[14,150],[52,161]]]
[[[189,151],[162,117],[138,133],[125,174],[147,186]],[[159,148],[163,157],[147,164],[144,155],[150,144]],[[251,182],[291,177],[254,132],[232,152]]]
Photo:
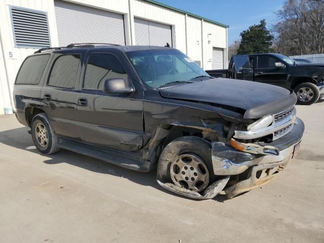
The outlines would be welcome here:
[[[237,129],[237,126],[234,127]],[[224,134],[217,141],[204,136],[211,141],[213,174],[217,178],[205,190],[194,192],[157,178],[159,185],[194,199],[210,199],[223,190],[228,198],[232,198],[259,187],[271,181],[296,156],[304,124],[296,118],[295,107],[292,107],[262,117],[246,126],[243,131],[236,129],[229,129],[232,133],[227,133],[227,139]],[[221,129],[218,132],[220,131]]]

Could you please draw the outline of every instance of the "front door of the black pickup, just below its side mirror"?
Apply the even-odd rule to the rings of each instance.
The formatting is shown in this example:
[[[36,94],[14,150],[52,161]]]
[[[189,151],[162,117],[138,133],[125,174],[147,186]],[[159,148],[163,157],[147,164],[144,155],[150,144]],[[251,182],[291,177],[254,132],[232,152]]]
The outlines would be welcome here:
[[[287,66],[283,68],[276,67],[276,62],[281,61],[275,56],[258,55],[257,65],[254,68],[254,80],[260,83],[287,88],[288,68]]]

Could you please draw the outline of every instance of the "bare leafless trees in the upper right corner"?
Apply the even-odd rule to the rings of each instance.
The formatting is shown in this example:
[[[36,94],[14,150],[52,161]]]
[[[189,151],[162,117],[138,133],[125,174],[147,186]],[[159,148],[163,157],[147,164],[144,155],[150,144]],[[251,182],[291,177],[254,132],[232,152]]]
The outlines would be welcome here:
[[[277,52],[286,55],[324,53],[324,0],[289,0],[272,27]]]

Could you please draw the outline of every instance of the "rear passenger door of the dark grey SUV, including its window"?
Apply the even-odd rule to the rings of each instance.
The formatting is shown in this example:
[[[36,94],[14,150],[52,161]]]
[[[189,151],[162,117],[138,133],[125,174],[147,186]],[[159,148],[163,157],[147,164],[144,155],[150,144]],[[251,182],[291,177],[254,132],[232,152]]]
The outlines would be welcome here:
[[[60,136],[78,138],[76,100],[84,54],[75,50],[54,54],[41,91],[43,108]]]

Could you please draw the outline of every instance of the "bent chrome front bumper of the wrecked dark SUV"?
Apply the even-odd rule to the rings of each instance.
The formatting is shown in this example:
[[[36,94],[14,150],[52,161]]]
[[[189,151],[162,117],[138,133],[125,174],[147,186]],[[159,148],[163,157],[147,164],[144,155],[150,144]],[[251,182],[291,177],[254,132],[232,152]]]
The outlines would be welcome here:
[[[286,136],[269,143],[279,150],[278,155],[258,155],[239,151],[221,142],[212,143],[212,162],[215,175],[238,175],[250,167],[272,163],[285,164],[292,158],[294,147],[300,142],[304,123],[296,118],[293,130]]]

